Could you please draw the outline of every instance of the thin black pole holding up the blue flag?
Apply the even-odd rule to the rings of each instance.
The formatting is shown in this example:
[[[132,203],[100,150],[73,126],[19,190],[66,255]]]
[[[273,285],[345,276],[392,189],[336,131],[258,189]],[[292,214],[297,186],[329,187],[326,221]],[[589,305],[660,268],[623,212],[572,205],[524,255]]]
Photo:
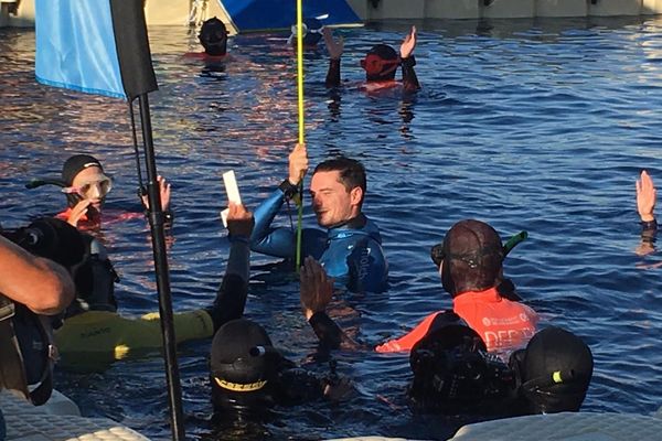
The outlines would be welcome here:
[[[161,333],[163,335],[163,357],[166,359],[166,379],[168,380],[168,397],[170,399],[172,439],[184,441],[182,388],[177,363],[177,340],[174,337],[174,322],[172,319],[170,273],[168,271],[166,235],[163,233],[164,215],[161,207],[159,183],[157,181],[157,161],[154,158],[149,100],[147,94],[138,95],[138,99],[140,104],[142,143],[145,147],[145,166],[147,168],[147,197],[150,207],[148,212],[149,226],[151,228],[154,270],[157,272],[157,288],[159,290],[159,314],[161,316]]]

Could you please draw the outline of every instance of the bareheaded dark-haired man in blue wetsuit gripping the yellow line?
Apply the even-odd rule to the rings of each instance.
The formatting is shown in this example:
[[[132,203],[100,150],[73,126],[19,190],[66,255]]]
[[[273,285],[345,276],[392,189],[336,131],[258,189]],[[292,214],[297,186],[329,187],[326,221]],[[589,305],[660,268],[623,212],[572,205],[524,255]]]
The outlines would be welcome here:
[[[289,155],[288,179],[255,211],[250,249],[269,256],[295,257],[296,233],[270,225],[282,203],[297,194],[307,170],[306,146],[297,144]],[[340,157],[314,169],[310,182],[312,209],[327,232],[305,228],[301,256],[319,260],[338,286],[352,292],[381,292],[387,287],[388,265],[380,229],[361,211],[365,190],[365,169],[356,160]]]

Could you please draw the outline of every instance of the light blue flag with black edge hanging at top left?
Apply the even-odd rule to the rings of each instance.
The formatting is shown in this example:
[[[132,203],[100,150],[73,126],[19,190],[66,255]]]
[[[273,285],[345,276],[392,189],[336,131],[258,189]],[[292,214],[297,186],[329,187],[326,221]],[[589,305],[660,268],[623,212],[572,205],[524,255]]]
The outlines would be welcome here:
[[[157,89],[139,0],[35,0],[36,80],[132,100]]]

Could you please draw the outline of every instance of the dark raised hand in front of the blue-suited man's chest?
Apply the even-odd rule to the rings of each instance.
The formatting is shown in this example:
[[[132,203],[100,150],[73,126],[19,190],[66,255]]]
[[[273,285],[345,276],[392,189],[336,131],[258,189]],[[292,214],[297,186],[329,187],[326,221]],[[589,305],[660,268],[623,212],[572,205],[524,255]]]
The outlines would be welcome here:
[[[324,311],[333,295],[333,279],[327,276],[324,268],[312,257],[307,257],[301,267],[301,309],[306,320]]]

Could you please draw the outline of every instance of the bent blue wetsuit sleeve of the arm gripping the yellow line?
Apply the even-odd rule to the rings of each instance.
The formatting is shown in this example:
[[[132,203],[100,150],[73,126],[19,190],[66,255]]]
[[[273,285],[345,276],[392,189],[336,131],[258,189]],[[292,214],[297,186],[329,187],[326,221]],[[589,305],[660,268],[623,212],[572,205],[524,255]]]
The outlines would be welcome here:
[[[280,211],[285,195],[276,190],[254,212],[255,227],[250,235],[250,249],[268,256],[290,258],[296,252],[296,237],[290,228],[271,228],[274,217]]]

